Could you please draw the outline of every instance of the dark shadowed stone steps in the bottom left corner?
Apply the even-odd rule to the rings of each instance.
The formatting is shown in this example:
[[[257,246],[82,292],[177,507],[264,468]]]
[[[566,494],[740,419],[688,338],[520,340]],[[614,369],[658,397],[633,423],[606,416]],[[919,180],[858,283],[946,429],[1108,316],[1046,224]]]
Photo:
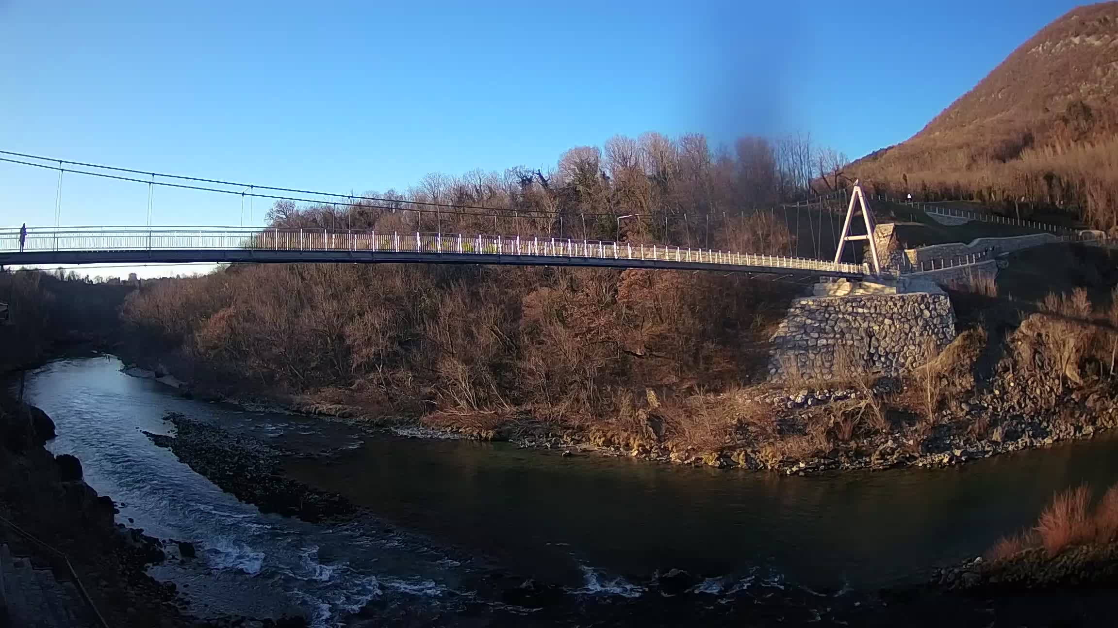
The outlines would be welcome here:
[[[0,544],[0,627],[96,628],[91,615],[77,586]]]

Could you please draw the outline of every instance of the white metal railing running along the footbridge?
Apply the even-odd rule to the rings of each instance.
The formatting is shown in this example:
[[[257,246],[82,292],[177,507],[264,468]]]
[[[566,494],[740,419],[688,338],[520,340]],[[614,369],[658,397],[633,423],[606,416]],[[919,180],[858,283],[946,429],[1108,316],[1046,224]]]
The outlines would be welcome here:
[[[359,229],[245,229],[239,227],[78,227],[29,229],[20,246],[18,229],[0,230],[0,253],[113,250],[307,250],[512,255],[561,258],[628,259],[724,266],[755,266],[869,274],[863,264],[730,253],[657,244],[610,242],[491,234],[430,234]],[[215,261],[220,258],[215,257]]]

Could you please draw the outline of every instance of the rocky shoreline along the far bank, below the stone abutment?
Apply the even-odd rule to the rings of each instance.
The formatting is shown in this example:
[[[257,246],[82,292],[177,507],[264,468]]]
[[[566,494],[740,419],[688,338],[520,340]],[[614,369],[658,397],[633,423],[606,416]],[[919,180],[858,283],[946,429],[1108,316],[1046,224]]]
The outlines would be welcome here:
[[[1108,388],[1053,394],[1043,387],[1030,386],[1035,382],[1018,384],[1011,374],[987,383],[983,392],[972,390],[967,397],[947,403],[936,413],[935,426],[920,441],[912,438],[911,430],[903,429],[906,417],[901,416],[896,419],[902,424],[901,428],[891,432],[831,443],[830,450],[825,453],[794,457],[774,455],[767,443],[747,443],[743,439],[728,441],[711,450],[673,448],[657,443],[654,437],[634,446],[632,440],[618,443],[616,435],[601,430],[563,428],[534,421],[531,417],[521,417],[494,429],[432,425],[419,417],[375,417],[359,407],[338,403],[324,407],[310,399],[224,398],[197,391],[188,382],[158,370],[132,365],[124,372],[155,379],[188,397],[221,401],[245,410],[314,416],[408,438],[500,440],[523,448],[559,450],[565,455],[632,457],[663,464],[743,468],[786,475],[894,467],[941,468],[1060,441],[1093,438],[1118,427],[1118,396]],[[777,422],[794,426],[825,419],[844,403],[901,396],[910,388],[911,382],[898,378],[883,379],[873,387],[862,389],[767,386],[758,387],[756,396],[749,401],[771,412]],[[1073,415],[1076,417],[1069,420]],[[911,417],[908,419],[911,420]],[[980,432],[973,428],[976,424],[985,426]]]

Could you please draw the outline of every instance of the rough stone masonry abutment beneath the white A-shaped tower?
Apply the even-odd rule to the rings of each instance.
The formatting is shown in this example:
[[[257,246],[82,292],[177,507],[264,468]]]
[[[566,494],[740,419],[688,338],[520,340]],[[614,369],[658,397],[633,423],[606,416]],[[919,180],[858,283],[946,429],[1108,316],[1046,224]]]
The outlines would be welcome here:
[[[922,363],[929,341],[942,349],[954,337],[942,293],[797,298],[770,339],[769,377],[830,380],[849,367],[897,375]]]

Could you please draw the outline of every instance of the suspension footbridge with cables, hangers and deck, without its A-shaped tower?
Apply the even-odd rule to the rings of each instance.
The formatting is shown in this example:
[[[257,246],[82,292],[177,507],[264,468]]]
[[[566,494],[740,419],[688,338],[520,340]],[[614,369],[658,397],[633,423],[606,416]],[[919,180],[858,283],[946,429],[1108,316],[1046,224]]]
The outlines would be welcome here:
[[[617,225],[617,240],[620,240],[623,219],[642,219],[639,215],[577,215],[565,217],[559,213],[518,211],[517,209],[494,209],[471,204],[452,204],[429,200],[383,199],[369,196],[328,194],[309,190],[295,190],[264,185],[252,185],[233,181],[199,179],[173,174],[160,174],[92,163],[54,160],[36,155],[0,151],[0,162],[30,170],[57,172],[55,183],[54,226],[31,226],[29,228],[0,229],[0,266],[38,266],[89,264],[221,264],[221,263],[345,263],[345,264],[486,264],[517,266],[584,266],[610,268],[664,268],[689,270],[739,272],[766,274],[794,279],[809,279],[822,276],[862,277],[871,274],[871,267],[863,264],[841,261],[841,249],[834,260],[823,259],[823,219],[817,227],[807,220],[811,237],[811,255],[805,257],[799,247],[789,240],[789,255],[774,255],[767,251],[738,251],[694,246],[675,246],[654,242],[656,236],[646,234],[628,241],[606,241],[590,239],[594,234],[587,229],[587,218]],[[139,227],[63,227],[64,180],[78,177],[121,182],[125,185],[143,185],[148,192],[146,221]],[[302,202],[311,207],[329,207],[331,221],[344,217],[347,228],[331,228],[315,225],[292,226],[277,221],[267,227],[174,227],[153,225],[153,190],[168,188],[189,193],[206,192],[211,197],[240,197],[241,220],[246,199],[271,202]],[[852,197],[853,199],[853,197]],[[85,200],[85,199],[83,199]],[[818,200],[818,199],[817,199]],[[73,201],[72,201],[73,202]],[[796,210],[796,228],[799,227],[798,207],[781,206],[787,220],[789,207]],[[853,207],[853,204],[851,206]],[[337,209],[345,213],[338,215]],[[773,210],[770,210],[771,212]],[[357,226],[353,213],[359,218],[373,215],[364,220],[366,229]],[[41,213],[39,213],[41,216]],[[376,216],[389,218],[389,229],[377,229],[380,222]],[[404,217],[402,219],[400,217]],[[771,215],[776,217],[775,213]],[[563,222],[566,218],[566,223]],[[686,215],[657,218],[662,220],[661,231],[670,234],[669,218],[682,218],[692,239],[693,226],[699,222]],[[716,221],[719,219],[714,216]],[[501,234],[498,220],[503,226],[514,222],[511,235]],[[647,217],[644,217],[647,221]],[[722,225],[735,217],[721,213]],[[745,223],[746,215],[739,219]],[[493,232],[446,232],[444,227],[473,227],[492,220]],[[521,231],[522,221],[529,221],[531,236]],[[572,225],[572,222],[575,225]],[[702,225],[710,240],[711,215],[702,217]],[[577,225],[577,226],[576,226]],[[847,227],[850,221],[847,220]],[[402,227],[402,229],[401,229]],[[410,228],[409,228],[410,227]],[[436,229],[430,229],[437,227]],[[870,225],[866,222],[866,227]],[[406,229],[406,230],[404,230]],[[484,229],[484,227],[482,227]],[[461,229],[455,229],[459,231]],[[581,232],[577,232],[580,230]],[[571,234],[576,231],[576,234]],[[868,231],[869,232],[869,231]],[[580,237],[571,237],[577,235]],[[837,234],[832,234],[836,237]],[[845,234],[843,234],[845,236]],[[864,236],[862,237],[864,239]],[[794,238],[793,238],[794,239]],[[689,242],[691,244],[691,242]],[[841,245],[841,241],[839,241]],[[777,247],[766,247],[777,248]],[[781,247],[783,248],[783,247]],[[783,253],[783,251],[781,251]],[[796,254],[799,253],[799,256]],[[875,259],[875,258],[874,258]],[[880,272],[877,264],[873,273]]]

